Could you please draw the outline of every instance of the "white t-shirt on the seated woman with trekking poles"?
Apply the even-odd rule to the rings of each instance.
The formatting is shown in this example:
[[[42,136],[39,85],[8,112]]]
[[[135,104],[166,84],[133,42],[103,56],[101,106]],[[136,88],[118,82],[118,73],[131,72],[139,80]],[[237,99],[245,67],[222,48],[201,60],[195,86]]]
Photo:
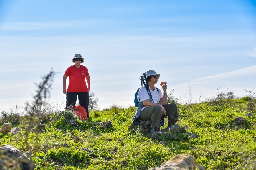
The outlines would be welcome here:
[[[155,87],[155,90],[152,91],[151,88],[149,88],[150,92],[151,92],[151,95],[152,95],[152,98],[153,98],[153,101],[154,103],[158,103],[160,101],[160,98],[163,97],[161,91],[157,91],[156,90],[156,87]],[[145,88],[145,86],[142,86],[138,92],[138,95],[137,95],[137,98],[140,102],[144,101],[144,100],[147,100],[149,99],[149,101],[151,101],[149,95],[148,95],[148,92]],[[141,110],[143,110],[145,107],[143,107]]]

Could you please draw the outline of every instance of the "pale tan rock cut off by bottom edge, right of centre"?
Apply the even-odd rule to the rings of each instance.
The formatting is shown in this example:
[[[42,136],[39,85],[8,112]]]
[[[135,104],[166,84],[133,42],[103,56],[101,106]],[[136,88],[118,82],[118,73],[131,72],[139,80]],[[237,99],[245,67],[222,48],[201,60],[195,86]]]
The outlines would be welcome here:
[[[164,162],[160,167],[152,168],[151,170],[187,170],[187,169],[204,170],[205,168],[197,163],[191,155],[176,155],[167,162]]]

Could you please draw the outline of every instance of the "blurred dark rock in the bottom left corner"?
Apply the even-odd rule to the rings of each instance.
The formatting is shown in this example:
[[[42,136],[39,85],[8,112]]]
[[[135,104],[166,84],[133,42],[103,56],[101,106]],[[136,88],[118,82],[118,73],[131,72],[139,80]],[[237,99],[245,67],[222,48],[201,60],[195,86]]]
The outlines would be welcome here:
[[[1,169],[32,169],[28,157],[10,145],[0,147],[0,167]]]

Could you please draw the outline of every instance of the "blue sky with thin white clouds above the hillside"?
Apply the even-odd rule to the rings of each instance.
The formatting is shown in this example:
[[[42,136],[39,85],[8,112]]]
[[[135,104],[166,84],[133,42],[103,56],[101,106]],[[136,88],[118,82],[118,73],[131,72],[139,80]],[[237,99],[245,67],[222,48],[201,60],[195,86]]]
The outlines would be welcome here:
[[[0,109],[22,110],[51,68],[50,101],[64,105],[76,53],[100,109],[134,105],[150,69],[181,102],[243,96],[256,84],[255,30],[255,1],[0,1]]]

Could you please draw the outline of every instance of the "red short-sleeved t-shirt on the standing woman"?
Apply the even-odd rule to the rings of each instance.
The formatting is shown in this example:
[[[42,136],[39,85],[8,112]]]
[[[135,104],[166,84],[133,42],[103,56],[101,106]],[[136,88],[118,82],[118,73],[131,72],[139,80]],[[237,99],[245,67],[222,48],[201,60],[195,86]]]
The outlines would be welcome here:
[[[81,65],[80,68],[75,65],[70,66],[65,71],[65,75],[69,77],[69,86],[67,92],[88,92],[85,77],[89,75],[88,69]]]

